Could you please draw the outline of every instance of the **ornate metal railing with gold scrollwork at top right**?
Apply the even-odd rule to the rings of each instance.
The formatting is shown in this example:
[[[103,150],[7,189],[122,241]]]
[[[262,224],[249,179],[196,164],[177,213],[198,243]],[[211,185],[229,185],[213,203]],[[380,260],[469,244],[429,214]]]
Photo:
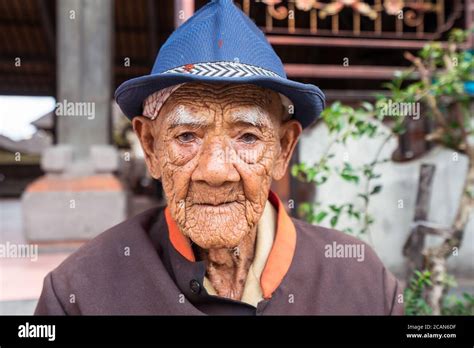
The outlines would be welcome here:
[[[238,0],[236,3],[267,34],[419,40],[440,38],[464,11],[461,0]],[[265,16],[261,15],[262,7]]]

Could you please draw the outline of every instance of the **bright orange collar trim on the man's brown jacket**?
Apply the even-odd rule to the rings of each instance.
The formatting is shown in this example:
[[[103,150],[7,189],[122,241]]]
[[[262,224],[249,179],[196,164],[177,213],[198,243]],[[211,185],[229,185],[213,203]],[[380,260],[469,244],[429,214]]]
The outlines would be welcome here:
[[[272,191],[268,194],[268,200],[277,210],[278,217],[275,241],[260,277],[260,286],[264,298],[272,297],[272,293],[282,282],[283,277],[290,268],[296,248],[296,229],[291,218],[286,213],[285,207]],[[194,257],[189,239],[179,230],[178,225],[171,217],[168,207],[165,208],[165,218],[173,247],[188,261],[195,262],[196,258]]]

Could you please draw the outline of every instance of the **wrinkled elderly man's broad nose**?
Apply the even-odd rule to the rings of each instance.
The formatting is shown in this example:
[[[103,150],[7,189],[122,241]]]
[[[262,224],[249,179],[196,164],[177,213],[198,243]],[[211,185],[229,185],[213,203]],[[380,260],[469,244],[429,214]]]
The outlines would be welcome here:
[[[231,150],[220,145],[203,149],[192,180],[204,181],[211,186],[239,181],[240,175],[234,167],[232,157]]]

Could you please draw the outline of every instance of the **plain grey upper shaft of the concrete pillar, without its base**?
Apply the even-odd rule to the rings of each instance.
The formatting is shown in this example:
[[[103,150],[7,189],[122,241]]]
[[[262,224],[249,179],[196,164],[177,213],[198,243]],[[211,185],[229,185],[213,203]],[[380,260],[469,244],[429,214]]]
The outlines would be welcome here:
[[[90,146],[110,141],[112,2],[58,1],[57,25],[57,102],[74,106],[74,115],[57,112],[58,142],[85,157]]]

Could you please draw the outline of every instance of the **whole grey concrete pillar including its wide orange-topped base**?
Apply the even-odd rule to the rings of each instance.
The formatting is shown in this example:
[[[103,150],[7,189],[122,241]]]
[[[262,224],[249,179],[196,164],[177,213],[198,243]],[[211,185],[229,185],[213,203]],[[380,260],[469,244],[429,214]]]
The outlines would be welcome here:
[[[46,174],[22,196],[30,241],[87,240],[126,218],[113,175],[111,0],[57,1],[58,145],[42,155]]]

